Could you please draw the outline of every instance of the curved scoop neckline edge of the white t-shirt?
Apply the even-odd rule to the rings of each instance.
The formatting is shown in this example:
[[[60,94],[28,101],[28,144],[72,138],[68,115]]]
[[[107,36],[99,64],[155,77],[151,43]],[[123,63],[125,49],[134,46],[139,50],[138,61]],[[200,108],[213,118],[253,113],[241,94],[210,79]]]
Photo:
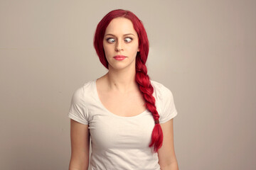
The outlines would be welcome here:
[[[137,118],[139,116],[144,115],[145,113],[149,112],[147,109],[145,111],[143,111],[142,113],[139,113],[138,115],[133,115],[133,116],[122,116],[122,115],[116,115],[114,113],[112,113],[111,111],[109,111],[104,105],[103,103],[100,101],[100,97],[99,94],[97,93],[97,85],[96,85],[96,81],[97,79],[92,80],[92,86],[93,86],[93,92],[95,93],[95,98],[97,100],[98,103],[100,103],[101,108],[103,108],[105,111],[107,111],[107,113],[109,113],[110,115],[113,115],[117,118],[124,118],[124,119],[131,119],[131,118]]]

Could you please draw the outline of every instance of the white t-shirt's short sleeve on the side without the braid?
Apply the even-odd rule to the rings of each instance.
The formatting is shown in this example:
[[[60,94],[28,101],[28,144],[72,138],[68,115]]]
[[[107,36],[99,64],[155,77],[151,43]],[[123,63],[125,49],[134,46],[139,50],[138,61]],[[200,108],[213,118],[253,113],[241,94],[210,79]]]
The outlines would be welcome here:
[[[88,110],[85,106],[83,92],[83,88],[80,87],[73,93],[68,117],[79,123],[88,125]]]

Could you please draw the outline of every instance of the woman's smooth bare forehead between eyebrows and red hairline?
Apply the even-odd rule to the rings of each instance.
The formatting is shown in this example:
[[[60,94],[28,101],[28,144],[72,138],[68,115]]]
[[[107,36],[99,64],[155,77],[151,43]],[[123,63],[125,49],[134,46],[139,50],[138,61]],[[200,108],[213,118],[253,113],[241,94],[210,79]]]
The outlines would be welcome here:
[[[134,33],[136,34],[136,30],[132,25],[132,21],[127,18],[119,17],[114,18],[110,21],[110,24],[107,26],[105,34],[112,33],[114,35],[121,35],[127,33]]]

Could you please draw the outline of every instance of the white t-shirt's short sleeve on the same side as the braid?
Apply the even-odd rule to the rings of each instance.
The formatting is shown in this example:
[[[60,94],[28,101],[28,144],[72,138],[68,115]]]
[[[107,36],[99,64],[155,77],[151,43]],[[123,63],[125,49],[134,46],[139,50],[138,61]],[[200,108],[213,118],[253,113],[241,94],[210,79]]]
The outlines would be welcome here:
[[[177,115],[174,96],[166,86],[161,88],[161,113],[159,115],[159,123],[166,123]]]

